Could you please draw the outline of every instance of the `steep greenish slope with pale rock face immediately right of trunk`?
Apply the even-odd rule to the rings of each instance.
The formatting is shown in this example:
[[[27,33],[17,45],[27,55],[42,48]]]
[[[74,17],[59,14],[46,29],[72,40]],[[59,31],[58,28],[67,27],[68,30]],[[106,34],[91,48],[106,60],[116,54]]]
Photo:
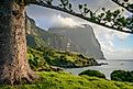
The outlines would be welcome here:
[[[35,21],[26,18],[26,43],[27,46],[30,47],[45,47],[47,46],[47,43],[41,37],[41,34],[38,33],[38,31],[41,31],[42,29],[37,27],[35,25]],[[44,31],[44,30],[43,30]]]

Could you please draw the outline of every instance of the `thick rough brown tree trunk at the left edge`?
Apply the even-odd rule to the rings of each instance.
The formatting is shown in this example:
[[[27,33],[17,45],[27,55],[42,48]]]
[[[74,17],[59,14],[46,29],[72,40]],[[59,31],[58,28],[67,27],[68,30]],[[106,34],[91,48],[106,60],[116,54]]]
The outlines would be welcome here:
[[[0,2],[0,84],[31,82],[37,76],[26,59],[24,5],[3,1]]]

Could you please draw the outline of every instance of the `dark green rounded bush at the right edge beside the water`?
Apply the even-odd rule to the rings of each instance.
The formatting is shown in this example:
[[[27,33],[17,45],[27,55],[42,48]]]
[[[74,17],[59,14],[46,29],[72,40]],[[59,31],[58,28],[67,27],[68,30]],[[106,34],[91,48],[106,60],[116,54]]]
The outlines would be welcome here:
[[[133,82],[133,71],[114,70],[111,74],[111,80]]]

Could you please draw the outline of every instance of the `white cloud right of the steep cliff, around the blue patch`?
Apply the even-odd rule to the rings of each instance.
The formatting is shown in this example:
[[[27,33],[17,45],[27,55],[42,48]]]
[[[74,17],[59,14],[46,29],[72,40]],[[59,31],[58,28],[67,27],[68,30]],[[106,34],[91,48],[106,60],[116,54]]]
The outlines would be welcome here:
[[[93,23],[89,23],[96,33],[101,49],[107,59],[131,59],[133,58],[133,48],[117,47],[114,40],[118,38],[122,42],[126,41],[130,34],[113,31]],[[118,43],[119,44],[119,43]],[[121,44],[120,44],[121,46]]]

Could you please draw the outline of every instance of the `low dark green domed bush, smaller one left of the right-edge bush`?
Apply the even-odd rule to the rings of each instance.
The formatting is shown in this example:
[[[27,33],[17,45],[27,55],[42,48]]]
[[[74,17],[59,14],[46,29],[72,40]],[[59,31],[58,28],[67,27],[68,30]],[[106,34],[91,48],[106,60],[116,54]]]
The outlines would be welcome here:
[[[80,73],[79,76],[80,75],[87,75],[87,76],[91,76],[91,77],[98,77],[98,78],[104,78],[106,79],[106,76],[98,70],[89,70],[88,69],[88,70]]]

